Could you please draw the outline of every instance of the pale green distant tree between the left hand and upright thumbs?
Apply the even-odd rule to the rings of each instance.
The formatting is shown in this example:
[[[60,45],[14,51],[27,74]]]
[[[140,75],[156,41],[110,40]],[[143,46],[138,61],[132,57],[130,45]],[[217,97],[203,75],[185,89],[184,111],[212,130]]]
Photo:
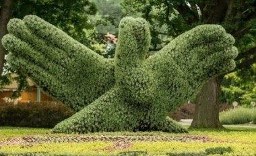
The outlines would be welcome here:
[[[118,25],[123,17],[121,2],[123,0],[90,0],[95,3],[98,12],[96,15],[89,15],[90,23],[95,25],[88,37],[92,40],[92,49],[94,52],[103,55],[105,58],[113,58],[115,48],[108,51],[107,45],[103,40],[106,40],[106,34],[118,35]]]

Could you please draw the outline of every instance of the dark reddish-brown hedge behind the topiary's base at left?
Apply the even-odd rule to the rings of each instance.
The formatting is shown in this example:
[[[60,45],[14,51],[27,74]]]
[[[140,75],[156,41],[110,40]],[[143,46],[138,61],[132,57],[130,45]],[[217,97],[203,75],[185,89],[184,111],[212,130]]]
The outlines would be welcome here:
[[[58,102],[0,103],[0,125],[53,128],[74,112]]]

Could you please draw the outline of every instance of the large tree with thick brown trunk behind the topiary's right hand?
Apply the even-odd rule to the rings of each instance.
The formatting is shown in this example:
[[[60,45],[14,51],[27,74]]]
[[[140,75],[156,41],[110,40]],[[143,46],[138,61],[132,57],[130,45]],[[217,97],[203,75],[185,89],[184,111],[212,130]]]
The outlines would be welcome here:
[[[234,35],[239,55],[236,70],[249,68],[256,62],[255,22],[256,1],[166,1],[166,0],[124,0],[127,15],[137,15],[147,19],[152,32],[152,51],[158,51],[172,39],[199,24],[220,24]],[[189,60],[188,60],[189,61]],[[193,128],[220,128],[218,106],[220,84],[224,74],[212,78],[202,86],[197,94]]]

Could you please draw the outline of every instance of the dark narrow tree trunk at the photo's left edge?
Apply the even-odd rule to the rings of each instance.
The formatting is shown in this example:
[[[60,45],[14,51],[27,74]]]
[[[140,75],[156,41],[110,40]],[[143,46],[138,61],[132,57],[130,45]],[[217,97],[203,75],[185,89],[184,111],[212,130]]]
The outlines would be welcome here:
[[[1,43],[3,35],[7,33],[7,23],[11,18],[13,11],[13,0],[3,0],[0,10],[0,77],[3,73],[3,63],[5,60],[5,48]]]

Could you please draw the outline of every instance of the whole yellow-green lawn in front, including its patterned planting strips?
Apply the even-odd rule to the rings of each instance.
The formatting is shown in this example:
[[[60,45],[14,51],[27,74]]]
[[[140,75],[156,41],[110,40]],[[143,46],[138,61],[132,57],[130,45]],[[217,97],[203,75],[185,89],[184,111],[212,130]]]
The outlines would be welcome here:
[[[177,153],[256,155],[256,129],[228,127],[225,131],[191,129],[189,133],[179,134],[118,132],[56,135],[51,134],[51,129],[0,128],[0,155],[127,155],[127,153],[129,155],[138,153],[139,155],[177,155]]]

